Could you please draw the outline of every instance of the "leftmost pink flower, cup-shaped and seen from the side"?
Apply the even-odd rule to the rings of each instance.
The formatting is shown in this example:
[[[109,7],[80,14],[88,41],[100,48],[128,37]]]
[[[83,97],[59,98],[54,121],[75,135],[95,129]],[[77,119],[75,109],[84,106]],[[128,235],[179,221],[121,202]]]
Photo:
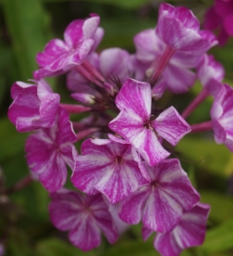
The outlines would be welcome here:
[[[8,109],[8,118],[18,132],[30,132],[55,124],[60,96],[53,93],[45,81],[35,83],[16,82],[11,87],[14,102]]]

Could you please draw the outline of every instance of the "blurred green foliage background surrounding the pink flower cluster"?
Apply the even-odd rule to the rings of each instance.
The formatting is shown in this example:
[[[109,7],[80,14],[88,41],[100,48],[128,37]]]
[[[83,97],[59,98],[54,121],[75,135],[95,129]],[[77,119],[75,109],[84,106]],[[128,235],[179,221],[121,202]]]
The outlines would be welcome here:
[[[37,69],[35,55],[48,40],[63,38],[67,24],[84,19],[89,13],[101,16],[104,40],[98,48],[123,47],[134,52],[133,36],[156,25],[159,0],[0,0],[0,245],[9,256],[151,256],[153,237],[142,242],[141,226],[132,226],[110,246],[103,238],[100,248],[81,252],[69,244],[67,234],[55,230],[48,217],[48,194],[39,183],[32,183],[6,197],[4,191],[29,173],[24,158],[24,142],[28,134],[18,134],[7,120],[11,104],[10,87],[16,81],[27,82]],[[211,0],[167,1],[188,6],[201,20]],[[222,62],[226,82],[233,84],[233,41],[211,50]],[[67,99],[65,76],[49,79],[54,90]],[[190,93],[167,94],[161,105],[172,104],[178,110],[187,106],[201,91],[196,83]],[[169,103],[168,103],[169,102]],[[195,110],[188,122],[210,119],[212,99]],[[178,144],[175,155],[202,195],[202,202],[212,207],[208,231],[202,247],[185,250],[187,256],[233,255],[233,155],[225,146],[215,144],[212,133],[187,135]],[[69,173],[70,174],[70,173]]]

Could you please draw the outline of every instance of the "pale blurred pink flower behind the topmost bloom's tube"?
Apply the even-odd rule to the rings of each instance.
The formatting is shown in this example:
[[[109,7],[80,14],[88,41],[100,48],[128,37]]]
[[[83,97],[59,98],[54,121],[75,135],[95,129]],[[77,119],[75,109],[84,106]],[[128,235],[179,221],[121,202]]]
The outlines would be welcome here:
[[[137,49],[136,58],[143,63],[143,67],[146,66],[147,70],[152,71],[157,69],[166,45],[154,30],[149,29],[136,34],[134,44]],[[201,58],[180,51],[175,52],[162,73],[167,89],[173,93],[187,92],[196,80],[196,74],[190,69],[196,68]]]

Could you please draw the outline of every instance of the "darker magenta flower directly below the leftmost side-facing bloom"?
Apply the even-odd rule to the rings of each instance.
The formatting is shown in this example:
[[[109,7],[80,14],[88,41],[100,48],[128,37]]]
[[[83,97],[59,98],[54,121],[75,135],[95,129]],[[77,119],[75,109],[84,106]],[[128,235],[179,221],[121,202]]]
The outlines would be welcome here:
[[[39,175],[43,186],[55,192],[65,185],[67,165],[74,169],[77,151],[71,122],[65,109],[58,109],[55,125],[31,134],[26,141],[26,157],[32,172]]]

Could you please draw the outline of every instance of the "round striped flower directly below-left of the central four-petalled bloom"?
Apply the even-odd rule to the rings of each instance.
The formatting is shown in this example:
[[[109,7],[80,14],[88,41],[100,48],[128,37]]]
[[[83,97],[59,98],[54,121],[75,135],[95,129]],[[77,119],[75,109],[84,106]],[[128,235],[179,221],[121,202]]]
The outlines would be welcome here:
[[[101,192],[116,203],[148,183],[140,161],[135,149],[124,140],[88,139],[81,145],[71,181],[89,195]]]

